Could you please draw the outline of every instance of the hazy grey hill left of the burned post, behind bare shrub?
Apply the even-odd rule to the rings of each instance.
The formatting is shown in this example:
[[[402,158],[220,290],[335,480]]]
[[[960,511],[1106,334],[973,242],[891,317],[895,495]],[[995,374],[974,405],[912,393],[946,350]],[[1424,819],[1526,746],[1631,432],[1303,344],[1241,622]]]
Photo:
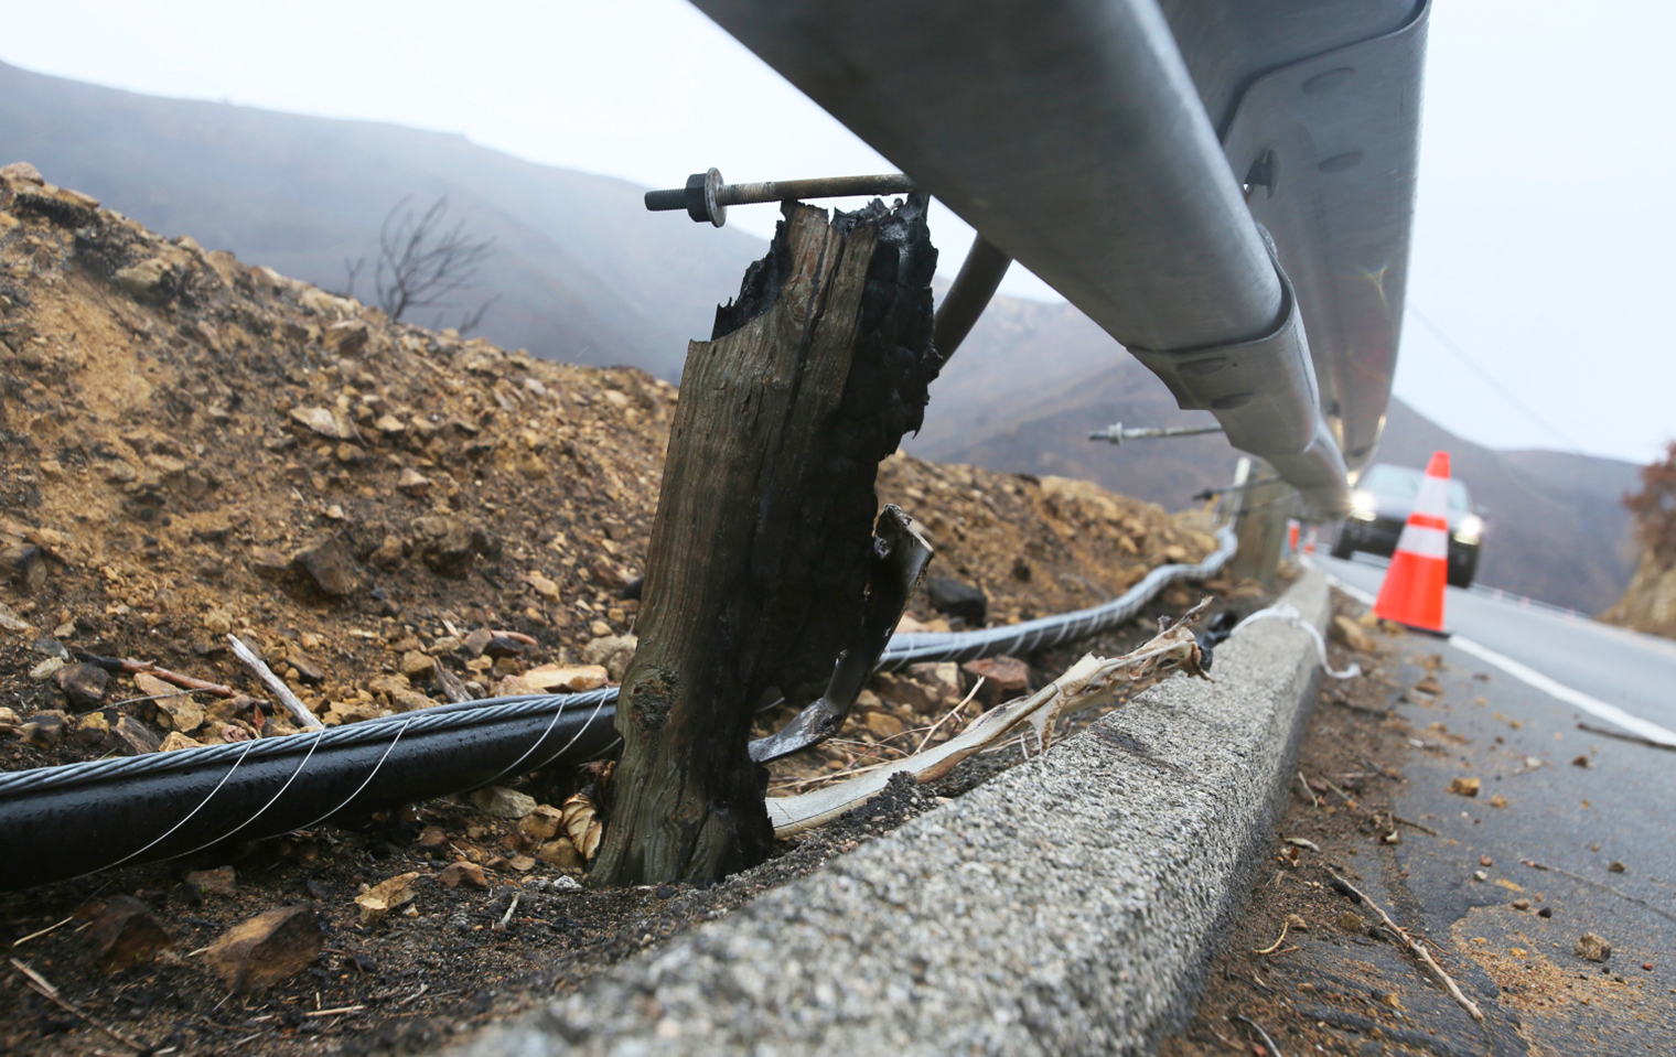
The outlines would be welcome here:
[[[404,196],[494,253],[469,303],[479,332],[566,364],[630,364],[675,380],[687,340],[763,253],[758,238],[650,214],[644,188],[538,166],[463,136],[158,99],[0,64],[0,146],[164,236],[189,235],[325,290],[375,253]],[[369,296],[370,266],[360,280]],[[461,315],[447,312],[447,327]],[[437,322],[432,315],[416,323]]]

